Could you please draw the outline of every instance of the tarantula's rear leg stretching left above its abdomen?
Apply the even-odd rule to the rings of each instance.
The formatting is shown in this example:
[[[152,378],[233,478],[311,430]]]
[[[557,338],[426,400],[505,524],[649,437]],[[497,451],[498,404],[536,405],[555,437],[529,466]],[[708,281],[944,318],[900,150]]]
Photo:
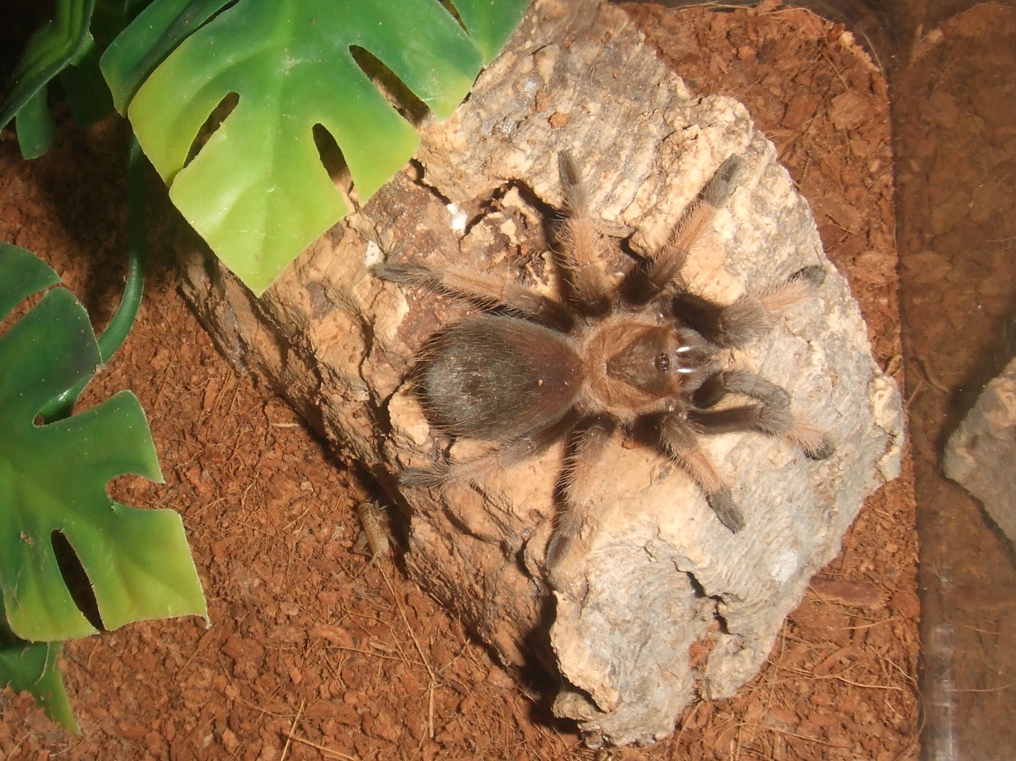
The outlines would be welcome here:
[[[517,317],[568,331],[574,319],[565,305],[542,296],[513,281],[473,272],[465,267],[441,270],[421,264],[378,264],[374,274],[382,280],[402,285],[417,285],[432,291],[462,298],[483,308],[502,307]]]

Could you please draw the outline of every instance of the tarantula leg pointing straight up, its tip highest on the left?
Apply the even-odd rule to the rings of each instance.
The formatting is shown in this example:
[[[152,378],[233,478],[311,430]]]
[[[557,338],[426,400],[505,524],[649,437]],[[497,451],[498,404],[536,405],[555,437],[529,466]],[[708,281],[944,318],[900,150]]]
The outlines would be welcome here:
[[[589,199],[578,164],[568,151],[558,154],[565,223],[558,233],[561,264],[574,291],[576,308],[588,317],[602,317],[615,301],[615,288],[604,273],[602,247],[589,214]]]

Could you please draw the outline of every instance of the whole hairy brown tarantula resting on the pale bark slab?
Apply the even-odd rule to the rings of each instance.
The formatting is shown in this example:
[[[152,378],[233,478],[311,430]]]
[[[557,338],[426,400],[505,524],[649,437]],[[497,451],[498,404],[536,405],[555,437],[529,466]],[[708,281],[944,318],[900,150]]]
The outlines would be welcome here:
[[[565,197],[558,235],[562,298],[454,265],[376,268],[384,279],[446,292],[488,310],[434,336],[421,354],[416,380],[432,424],[493,446],[463,462],[408,469],[401,480],[438,487],[473,482],[565,438],[561,504],[547,549],[553,569],[582,527],[593,497],[589,475],[620,431],[683,468],[719,521],[738,532],[744,516],[699,448],[700,434],[760,431],[782,436],[817,460],[829,457],[833,445],[824,431],[793,419],[782,388],[725,367],[723,349],[762,334],[772,314],[822,282],[824,270],[806,267],[725,305],[687,289],[681,275],[687,252],[737,186],[742,159],[734,155],[685,210],[662,249],[615,282],[604,270],[575,161],[563,152],[559,166]],[[734,400],[720,404],[727,397]]]

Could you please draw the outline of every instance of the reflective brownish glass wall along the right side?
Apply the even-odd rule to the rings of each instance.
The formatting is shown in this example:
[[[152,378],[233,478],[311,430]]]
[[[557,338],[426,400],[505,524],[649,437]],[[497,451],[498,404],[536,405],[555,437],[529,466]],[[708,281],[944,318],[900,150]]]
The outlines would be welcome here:
[[[1016,5],[789,4],[846,23],[889,78],[920,542],[922,755],[1016,758],[1016,551],[1000,528],[1008,505],[1016,534],[1016,456],[977,448],[1016,438],[1016,378],[993,384],[999,398],[982,416],[1008,431],[981,426],[961,458],[995,498],[982,503],[943,468],[951,435],[1016,354]]]

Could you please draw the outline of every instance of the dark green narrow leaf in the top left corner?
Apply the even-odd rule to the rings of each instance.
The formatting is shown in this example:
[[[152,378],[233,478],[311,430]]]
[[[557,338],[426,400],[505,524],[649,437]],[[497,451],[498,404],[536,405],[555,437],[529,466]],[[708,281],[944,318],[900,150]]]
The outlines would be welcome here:
[[[54,18],[42,26],[24,50],[14,70],[14,84],[0,106],[0,129],[15,116],[17,138],[25,158],[35,158],[52,144],[53,123],[46,110],[46,85],[90,44],[88,23],[96,0],[57,0]],[[25,124],[19,112],[28,106]],[[45,147],[43,147],[45,146]]]

